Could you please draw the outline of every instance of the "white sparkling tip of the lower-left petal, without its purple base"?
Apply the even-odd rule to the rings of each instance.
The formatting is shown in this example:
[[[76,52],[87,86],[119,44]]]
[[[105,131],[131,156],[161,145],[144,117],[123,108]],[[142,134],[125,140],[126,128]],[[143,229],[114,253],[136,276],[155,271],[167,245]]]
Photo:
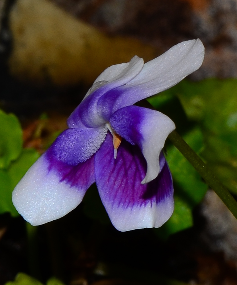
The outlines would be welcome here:
[[[85,191],[60,182],[56,170],[48,171],[43,154],[15,187],[12,200],[17,211],[32,225],[41,225],[73,210],[81,202]]]

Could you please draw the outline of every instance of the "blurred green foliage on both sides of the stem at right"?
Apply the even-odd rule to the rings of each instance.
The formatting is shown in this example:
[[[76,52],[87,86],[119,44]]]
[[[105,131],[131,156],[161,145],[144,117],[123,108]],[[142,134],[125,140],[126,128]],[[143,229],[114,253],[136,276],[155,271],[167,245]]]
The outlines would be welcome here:
[[[174,120],[185,141],[220,181],[237,194],[237,80],[183,80],[148,101]],[[185,111],[184,117],[180,107]],[[158,230],[163,237],[192,225],[191,210],[207,189],[179,151],[168,146],[167,154],[174,180],[175,210]]]

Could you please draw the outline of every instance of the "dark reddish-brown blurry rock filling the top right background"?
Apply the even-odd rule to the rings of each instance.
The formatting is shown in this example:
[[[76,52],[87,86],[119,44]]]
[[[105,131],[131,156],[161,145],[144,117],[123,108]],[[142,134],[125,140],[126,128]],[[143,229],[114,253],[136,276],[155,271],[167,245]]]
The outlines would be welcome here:
[[[183,40],[200,38],[205,60],[191,77],[237,77],[236,0],[51,1],[88,23],[145,39],[163,51]]]

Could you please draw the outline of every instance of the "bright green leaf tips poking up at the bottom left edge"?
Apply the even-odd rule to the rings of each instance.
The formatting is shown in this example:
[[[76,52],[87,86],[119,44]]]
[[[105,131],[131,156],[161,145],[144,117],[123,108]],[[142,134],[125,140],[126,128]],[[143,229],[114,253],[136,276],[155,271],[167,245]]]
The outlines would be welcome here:
[[[5,285],[42,285],[37,279],[28,276],[22,272],[18,273],[14,281],[9,281],[5,283]],[[64,285],[60,280],[57,278],[50,278],[46,285]]]

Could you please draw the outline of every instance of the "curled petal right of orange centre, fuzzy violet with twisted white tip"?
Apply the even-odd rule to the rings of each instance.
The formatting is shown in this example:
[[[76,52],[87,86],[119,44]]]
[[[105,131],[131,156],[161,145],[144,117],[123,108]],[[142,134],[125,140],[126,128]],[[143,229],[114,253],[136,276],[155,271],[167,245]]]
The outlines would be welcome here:
[[[147,162],[142,183],[156,178],[160,172],[160,152],[167,136],[175,129],[173,121],[158,111],[133,105],[116,111],[110,118],[110,125],[118,135],[142,150]]]

